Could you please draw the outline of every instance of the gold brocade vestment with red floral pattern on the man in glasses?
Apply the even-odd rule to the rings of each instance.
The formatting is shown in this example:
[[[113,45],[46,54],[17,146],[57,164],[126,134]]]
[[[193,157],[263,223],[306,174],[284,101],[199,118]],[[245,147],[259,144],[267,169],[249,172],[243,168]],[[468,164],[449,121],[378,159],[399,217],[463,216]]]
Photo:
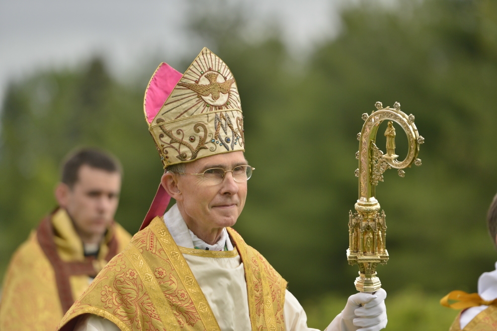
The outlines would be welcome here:
[[[139,231],[124,251],[93,280],[61,321],[73,330],[78,316],[99,315],[121,331],[220,331],[219,325],[182,254],[232,258],[240,254],[253,331],[284,331],[286,281],[233,229],[233,251],[178,247],[161,217]]]

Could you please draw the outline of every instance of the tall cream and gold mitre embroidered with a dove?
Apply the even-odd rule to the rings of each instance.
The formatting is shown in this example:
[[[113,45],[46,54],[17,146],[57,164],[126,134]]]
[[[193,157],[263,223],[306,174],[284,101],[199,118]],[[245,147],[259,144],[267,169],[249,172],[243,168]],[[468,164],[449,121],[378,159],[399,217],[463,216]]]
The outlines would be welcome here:
[[[245,151],[237,83],[228,66],[207,48],[183,75],[162,63],[145,91],[144,111],[164,168]]]

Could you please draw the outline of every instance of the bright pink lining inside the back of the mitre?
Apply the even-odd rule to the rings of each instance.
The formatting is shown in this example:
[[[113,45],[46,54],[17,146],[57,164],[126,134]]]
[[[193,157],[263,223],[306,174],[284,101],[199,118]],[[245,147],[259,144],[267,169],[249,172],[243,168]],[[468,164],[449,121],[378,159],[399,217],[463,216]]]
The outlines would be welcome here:
[[[145,92],[145,115],[152,123],[183,74],[166,63],[157,68]]]

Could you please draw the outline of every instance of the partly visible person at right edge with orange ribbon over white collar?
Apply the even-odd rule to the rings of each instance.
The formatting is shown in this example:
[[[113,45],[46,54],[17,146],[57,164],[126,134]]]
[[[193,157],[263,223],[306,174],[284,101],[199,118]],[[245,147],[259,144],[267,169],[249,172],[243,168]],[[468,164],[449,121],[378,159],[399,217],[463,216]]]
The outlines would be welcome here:
[[[487,227],[497,249],[497,195],[487,213]],[[440,300],[442,306],[463,309],[449,331],[497,330],[497,262],[495,266],[478,278],[478,293],[452,291]]]

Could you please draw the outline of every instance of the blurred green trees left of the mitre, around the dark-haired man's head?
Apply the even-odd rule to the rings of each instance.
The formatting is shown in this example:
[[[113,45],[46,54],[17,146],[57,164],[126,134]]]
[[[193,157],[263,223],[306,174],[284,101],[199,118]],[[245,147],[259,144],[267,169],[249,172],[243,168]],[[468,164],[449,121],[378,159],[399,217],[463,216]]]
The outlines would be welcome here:
[[[161,165],[144,126],[143,92],[111,79],[94,59],[81,70],[41,72],[12,84],[1,113],[0,261],[55,207],[59,164],[71,149],[98,146],[125,169],[116,218],[136,232],[158,185]],[[156,174],[150,176],[151,174]],[[120,215],[126,217],[120,217]]]

